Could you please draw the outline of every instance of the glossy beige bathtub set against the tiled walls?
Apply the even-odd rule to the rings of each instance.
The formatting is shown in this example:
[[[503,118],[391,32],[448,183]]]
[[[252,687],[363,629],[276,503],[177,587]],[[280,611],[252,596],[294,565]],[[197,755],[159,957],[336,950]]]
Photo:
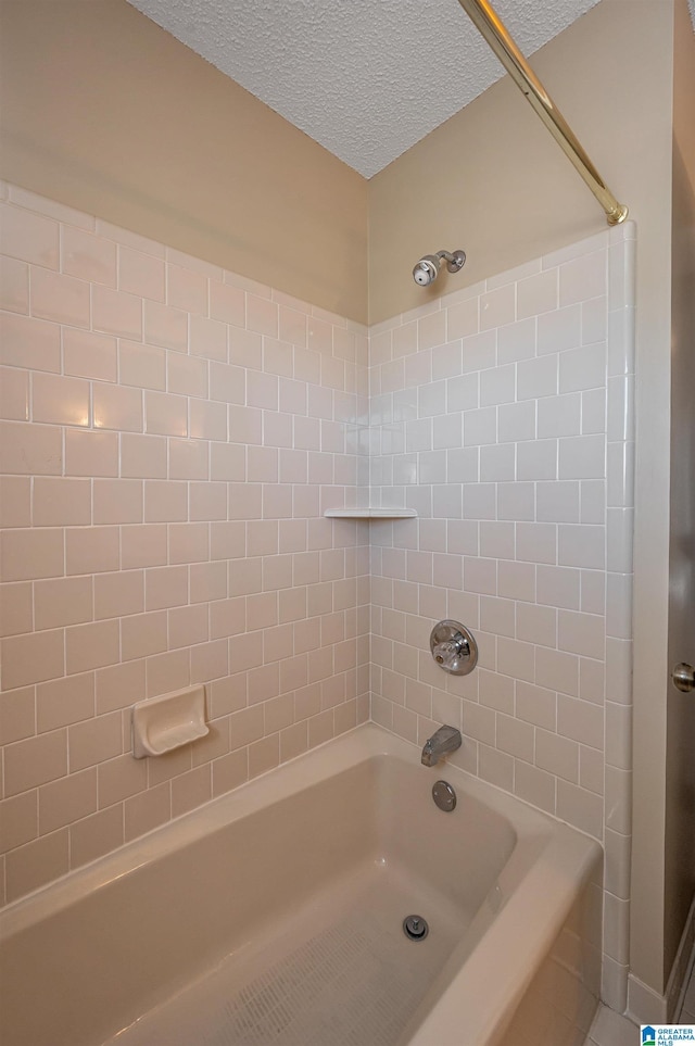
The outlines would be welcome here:
[[[595,841],[368,723],[0,912],[0,1042],[580,1044],[599,867]]]

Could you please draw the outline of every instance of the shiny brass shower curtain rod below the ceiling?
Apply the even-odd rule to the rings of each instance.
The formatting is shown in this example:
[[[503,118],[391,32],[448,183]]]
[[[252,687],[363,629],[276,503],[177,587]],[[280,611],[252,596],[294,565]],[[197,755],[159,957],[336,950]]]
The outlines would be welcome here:
[[[477,29],[507,70],[517,87],[539,114],[565,155],[574,165],[606,212],[608,225],[618,225],[628,216],[624,203],[618,203],[577,140],[571,127],[533,73],[504,24],[488,0],[458,0]]]

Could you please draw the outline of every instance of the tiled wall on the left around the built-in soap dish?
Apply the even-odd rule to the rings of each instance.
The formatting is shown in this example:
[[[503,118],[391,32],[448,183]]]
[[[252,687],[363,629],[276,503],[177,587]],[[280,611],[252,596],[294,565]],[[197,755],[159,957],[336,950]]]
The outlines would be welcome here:
[[[2,188],[12,900],[367,719],[367,332]],[[357,539],[363,544],[357,544]],[[208,738],[130,755],[203,681]]]

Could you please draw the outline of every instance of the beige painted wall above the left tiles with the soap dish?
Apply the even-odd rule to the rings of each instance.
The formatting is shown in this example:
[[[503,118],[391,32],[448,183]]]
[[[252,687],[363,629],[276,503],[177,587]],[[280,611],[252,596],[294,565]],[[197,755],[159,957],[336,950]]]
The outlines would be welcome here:
[[[367,182],[126,0],[3,0],[1,176],[367,318]]]

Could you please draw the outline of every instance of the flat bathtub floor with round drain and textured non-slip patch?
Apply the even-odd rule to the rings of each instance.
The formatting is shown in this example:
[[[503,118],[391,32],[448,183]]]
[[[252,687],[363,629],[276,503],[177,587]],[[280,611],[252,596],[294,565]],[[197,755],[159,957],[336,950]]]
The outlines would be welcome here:
[[[412,913],[424,941],[403,933]],[[104,1046],[393,1046],[471,916],[370,864]]]

